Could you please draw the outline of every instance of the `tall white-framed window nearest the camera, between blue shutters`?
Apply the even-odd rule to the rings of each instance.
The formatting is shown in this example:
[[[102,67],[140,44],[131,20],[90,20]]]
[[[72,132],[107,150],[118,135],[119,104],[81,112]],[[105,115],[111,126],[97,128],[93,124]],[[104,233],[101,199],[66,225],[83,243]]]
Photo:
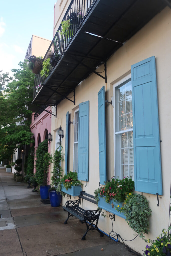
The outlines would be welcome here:
[[[113,85],[115,176],[134,180],[131,74]]]

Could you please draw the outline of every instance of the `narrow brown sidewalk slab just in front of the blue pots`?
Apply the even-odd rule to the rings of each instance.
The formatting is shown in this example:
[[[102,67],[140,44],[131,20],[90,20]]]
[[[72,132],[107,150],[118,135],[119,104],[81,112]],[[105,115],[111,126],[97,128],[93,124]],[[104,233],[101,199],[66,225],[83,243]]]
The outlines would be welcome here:
[[[24,215],[32,215],[32,214],[40,214],[47,212],[55,212],[55,211],[63,211],[62,207],[52,207],[51,205],[44,205],[39,207],[30,207],[30,208],[20,208],[20,209],[12,209],[11,214],[13,217],[16,216],[24,216]]]

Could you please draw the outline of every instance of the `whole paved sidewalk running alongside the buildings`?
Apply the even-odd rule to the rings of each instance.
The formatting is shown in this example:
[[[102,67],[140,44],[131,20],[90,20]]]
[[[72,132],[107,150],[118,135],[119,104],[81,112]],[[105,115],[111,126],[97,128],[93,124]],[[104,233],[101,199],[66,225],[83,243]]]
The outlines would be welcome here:
[[[132,256],[125,245],[100,237],[71,218],[62,207],[44,205],[38,193],[16,183],[12,173],[0,167],[0,256]],[[103,249],[102,249],[103,248]]]

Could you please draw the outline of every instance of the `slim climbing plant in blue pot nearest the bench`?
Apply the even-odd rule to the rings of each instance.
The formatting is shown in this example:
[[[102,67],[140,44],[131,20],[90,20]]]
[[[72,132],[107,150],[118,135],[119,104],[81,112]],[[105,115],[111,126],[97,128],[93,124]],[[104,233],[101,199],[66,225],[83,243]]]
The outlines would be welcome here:
[[[51,176],[52,188],[49,190],[49,199],[52,207],[60,206],[62,199],[61,193],[56,191],[61,180],[63,171],[61,167],[61,162],[64,161],[64,153],[62,153],[62,150],[62,147],[57,148],[53,155],[53,172]]]

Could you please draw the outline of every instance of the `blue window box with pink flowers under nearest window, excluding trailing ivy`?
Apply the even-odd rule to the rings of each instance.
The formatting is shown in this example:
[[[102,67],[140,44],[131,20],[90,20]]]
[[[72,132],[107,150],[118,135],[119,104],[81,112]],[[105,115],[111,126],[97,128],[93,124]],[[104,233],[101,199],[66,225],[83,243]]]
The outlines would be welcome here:
[[[106,182],[105,187],[99,189],[98,207],[125,219],[123,202],[133,189],[134,181],[131,178],[124,177],[121,180],[113,176],[111,182]]]

